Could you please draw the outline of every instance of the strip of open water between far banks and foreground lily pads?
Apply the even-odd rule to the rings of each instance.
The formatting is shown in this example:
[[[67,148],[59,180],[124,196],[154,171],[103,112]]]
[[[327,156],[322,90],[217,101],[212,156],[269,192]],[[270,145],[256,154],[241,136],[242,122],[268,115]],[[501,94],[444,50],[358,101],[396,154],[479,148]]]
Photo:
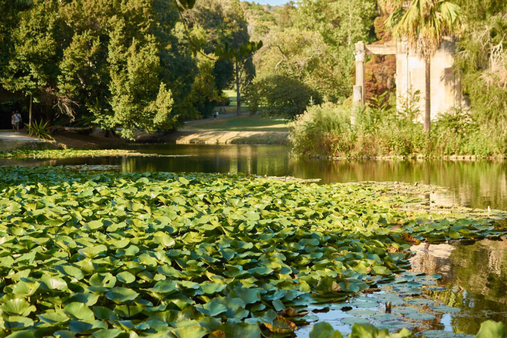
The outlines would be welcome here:
[[[195,155],[185,158],[123,157],[58,160],[0,160],[0,165],[121,165],[123,171],[243,172],[320,178],[322,183],[357,181],[421,182],[449,188],[430,196],[438,204],[507,210],[504,161],[328,161],[295,159],[283,145],[153,144],[133,145],[138,152]]]

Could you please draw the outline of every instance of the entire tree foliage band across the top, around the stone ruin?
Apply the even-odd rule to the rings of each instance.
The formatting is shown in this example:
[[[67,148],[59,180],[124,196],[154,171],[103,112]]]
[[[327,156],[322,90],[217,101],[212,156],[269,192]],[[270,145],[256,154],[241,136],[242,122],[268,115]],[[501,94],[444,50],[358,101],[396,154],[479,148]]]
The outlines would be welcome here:
[[[0,11],[4,116],[26,107],[32,96],[37,119],[118,129],[133,138],[136,129],[170,130],[210,115],[225,102],[224,90],[236,87],[238,101],[241,93],[253,100],[252,112],[293,117],[310,102],[347,101],[354,43],[389,41],[384,27],[389,16],[394,38],[403,35],[423,57],[445,34],[462,28],[456,65],[470,106],[482,111],[474,116],[488,121],[507,116],[501,99],[507,4],[499,0],[299,0],[284,6],[239,0],[0,0]],[[367,59],[369,101],[386,90],[395,95],[394,63],[388,56]],[[474,86],[479,81],[485,86]],[[287,84],[298,90],[278,88]],[[286,114],[276,108],[293,102],[296,92],[305,93],[296,110]],[[387,101],[389,95],[383,97]]]

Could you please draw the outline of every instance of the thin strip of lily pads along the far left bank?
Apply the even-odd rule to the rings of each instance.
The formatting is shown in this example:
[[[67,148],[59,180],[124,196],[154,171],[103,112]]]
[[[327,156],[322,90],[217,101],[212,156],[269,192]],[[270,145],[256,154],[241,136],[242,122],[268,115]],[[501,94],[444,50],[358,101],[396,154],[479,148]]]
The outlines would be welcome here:
[[[69,157],[104,157],[104,156],[150,156],[150,157],[183,157],[187,155],[159,155],[159,154],[142,154],[132,150],[120,149],[49,149],[49,150],[32,150],[17,149],[12,152],[0,152],[0,158],[3,159],[60,159]]]

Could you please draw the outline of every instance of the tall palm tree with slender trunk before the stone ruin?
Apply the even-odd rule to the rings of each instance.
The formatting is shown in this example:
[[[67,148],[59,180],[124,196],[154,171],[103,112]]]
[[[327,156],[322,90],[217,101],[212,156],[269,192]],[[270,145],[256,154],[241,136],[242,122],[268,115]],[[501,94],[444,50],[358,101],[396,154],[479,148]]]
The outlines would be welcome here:
[[[426,94],[424,129],[430,132],[430,59],[448,35],[458,35],[463,29],[461,8],[445,0],[411,0],[397,8],[386,21],[393,36],[407,42],[425,62]]]

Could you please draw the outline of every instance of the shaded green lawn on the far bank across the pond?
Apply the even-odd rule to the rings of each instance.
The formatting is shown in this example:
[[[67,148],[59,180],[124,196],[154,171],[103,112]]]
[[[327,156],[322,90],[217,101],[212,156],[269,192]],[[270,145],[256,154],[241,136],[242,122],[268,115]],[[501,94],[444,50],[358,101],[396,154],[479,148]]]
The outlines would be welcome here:
[[[284,119],[268,119],[259,115],[190,122],[182,130],[288,131]]]

